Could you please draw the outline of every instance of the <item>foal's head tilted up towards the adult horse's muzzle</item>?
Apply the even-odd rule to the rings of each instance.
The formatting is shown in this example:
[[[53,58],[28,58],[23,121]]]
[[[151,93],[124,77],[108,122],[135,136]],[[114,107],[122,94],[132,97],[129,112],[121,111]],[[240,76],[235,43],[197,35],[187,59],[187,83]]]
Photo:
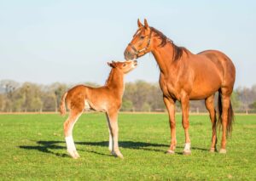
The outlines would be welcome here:
[[[113,69],[118,69],[119,71],[123,72],[124,74],[132,71],[135,67],[137,67],[137,60],[128,60],[124,62],[115,62],[112,61],[111,63],[108,62],[108,65]]]

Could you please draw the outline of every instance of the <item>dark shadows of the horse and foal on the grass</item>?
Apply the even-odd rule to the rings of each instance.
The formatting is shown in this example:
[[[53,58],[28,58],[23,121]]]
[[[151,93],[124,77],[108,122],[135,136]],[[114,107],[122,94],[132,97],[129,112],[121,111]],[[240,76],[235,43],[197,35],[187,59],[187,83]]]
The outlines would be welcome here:
[[[61,157],[67,157],[67,154],[60,154],[60,153],[55,153],[51,150],[66,150],[67,147],[59,145],[59,144],[66,144],[65,141],[37,141],[36,142],[38,145],[36,146],[29,146],[29,145],[20,145],[20,149],[26,149],[26,150],[38,150],[44,153],[48,154],[53,154],[55,156],[61,156]],[[100,141],[100,142],[75,142],[75,144],[82,144],[82,145],[90,145],[90,146],[103,146],[103,147],[108,147],[108,142],[107,141]],[[150,144],[150,143],[145,143],[145,142],[134,142],[134,141],[120,141],[119,142],[119,147],[120,148],[125,148],[125,149],[134,149],[134,150],[148,150],[148,151],[156,151],[156,152],[161,152],[161,153],[166,153],[165,150],[160,150],[157,149],[156,147],[166,147],[168,148],[168,144]],[[155,147],[155,148],[152,148]],[[177,148],[182,148],[182,147],[177,147]],[[196,148],[193,147],[193,150],[203,150],[207,151],[207,149],[201,149],[201,148]],[[167,149],[166,149],[167,150]],[[102,156],[111,156],[108,154],[103,154],[99,153],[96,151],[92,150],[82,150],[90,153],[94,153],[97,155],[102,155]],[[182,152],[177,152],[178,155],[181,155]]]

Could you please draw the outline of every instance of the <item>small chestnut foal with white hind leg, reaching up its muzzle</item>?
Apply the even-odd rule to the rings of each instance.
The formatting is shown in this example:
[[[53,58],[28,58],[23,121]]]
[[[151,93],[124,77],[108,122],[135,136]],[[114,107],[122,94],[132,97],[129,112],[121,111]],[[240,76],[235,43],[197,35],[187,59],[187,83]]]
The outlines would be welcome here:
[[[96,110],[105,112],[108,121],[109,144],[108,149],[113,156],[123,158],[118,144],[118,112],[122,105],[122,97],[125,90],[124,76],[137,66],[137,60],[108,63],[112,70],[109,73],[105,86],[90,88],[78,85],[64,93],[61,99],[61,116],[66,114],[66,106],[70,110],[69,116],[64,122],[64,135],[67,144],[67,152],[74,159],[79,158],[73,142],[73,126],[78,121],[83,110]]]

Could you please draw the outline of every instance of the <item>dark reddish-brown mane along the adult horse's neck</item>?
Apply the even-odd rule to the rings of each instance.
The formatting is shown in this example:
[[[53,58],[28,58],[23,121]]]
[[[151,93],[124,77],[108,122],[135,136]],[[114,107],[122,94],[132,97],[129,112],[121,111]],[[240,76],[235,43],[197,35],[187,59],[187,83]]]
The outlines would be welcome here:
[[[154,34],[157,35],[157,37],[160,37],[160,47],[164,47],[166,43],[170,42],[172,44],[173,48],[173,60],[180,59],[183,56],[183,52],[188,53],[188,49],[184,47],[178,47],[174,42],[166,37],[161,31],[156,30],[154,27],[150,27],[151,31],[154,32]]]

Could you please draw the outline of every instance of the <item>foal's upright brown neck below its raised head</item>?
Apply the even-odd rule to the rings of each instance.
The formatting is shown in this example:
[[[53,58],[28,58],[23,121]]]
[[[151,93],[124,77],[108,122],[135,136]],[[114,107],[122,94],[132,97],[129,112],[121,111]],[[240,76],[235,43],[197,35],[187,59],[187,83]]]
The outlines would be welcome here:
[[[106,83],[108,88],[113,88],[114,93],[123,95],[124,92],[124,74],[117,69],[112,69],[108,81]]]

